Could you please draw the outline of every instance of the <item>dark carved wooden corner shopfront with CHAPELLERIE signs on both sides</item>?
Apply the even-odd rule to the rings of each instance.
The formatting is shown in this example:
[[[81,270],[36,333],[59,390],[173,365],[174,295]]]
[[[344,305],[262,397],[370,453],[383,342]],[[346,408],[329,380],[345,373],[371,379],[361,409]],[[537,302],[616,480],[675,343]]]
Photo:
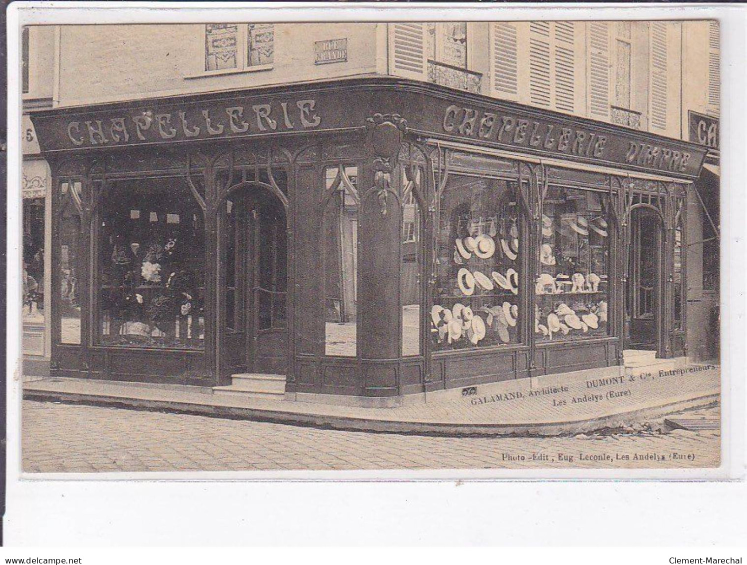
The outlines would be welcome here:
[[[31,119],[55,376],[391,399],[687,355],[702,146],[395,78]]]

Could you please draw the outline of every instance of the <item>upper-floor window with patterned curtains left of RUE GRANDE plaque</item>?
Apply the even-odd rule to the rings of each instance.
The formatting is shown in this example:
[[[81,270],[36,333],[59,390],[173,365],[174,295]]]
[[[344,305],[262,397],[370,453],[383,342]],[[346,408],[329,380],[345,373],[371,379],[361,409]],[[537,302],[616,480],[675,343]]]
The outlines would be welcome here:
[[[205,71],[272,66],[274,24],[205,24]]]

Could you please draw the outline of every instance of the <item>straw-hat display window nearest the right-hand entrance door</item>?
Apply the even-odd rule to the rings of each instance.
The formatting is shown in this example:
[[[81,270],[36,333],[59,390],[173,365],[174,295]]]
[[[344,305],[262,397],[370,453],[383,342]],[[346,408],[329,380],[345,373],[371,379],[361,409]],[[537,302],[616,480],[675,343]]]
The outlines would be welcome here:
[[[550,187],[543,203],[537,340],[607,335],[610,234],[607,195]]]

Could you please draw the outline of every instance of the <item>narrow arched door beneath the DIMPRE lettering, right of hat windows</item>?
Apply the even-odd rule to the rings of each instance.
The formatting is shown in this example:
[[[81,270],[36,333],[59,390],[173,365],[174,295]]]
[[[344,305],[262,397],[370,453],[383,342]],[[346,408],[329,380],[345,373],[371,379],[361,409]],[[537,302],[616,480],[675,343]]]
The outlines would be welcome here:
[[[627,278],[627,349],[659,350],[661,220],[648,207],[633,210]]]

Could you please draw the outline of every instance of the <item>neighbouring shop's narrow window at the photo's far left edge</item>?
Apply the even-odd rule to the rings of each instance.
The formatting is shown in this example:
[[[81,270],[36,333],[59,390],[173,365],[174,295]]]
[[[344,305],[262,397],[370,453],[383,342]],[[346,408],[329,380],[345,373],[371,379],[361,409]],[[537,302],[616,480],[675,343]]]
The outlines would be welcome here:
[[[23,199],[23,319],[44,322],[44,199]]]

